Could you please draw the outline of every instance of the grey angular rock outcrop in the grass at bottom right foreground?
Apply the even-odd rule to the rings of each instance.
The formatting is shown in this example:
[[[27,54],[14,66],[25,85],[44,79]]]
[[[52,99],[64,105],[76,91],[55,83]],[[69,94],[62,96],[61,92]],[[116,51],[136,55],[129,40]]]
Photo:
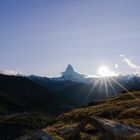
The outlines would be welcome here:
[[[86,118],[81,122],[71,134],[67,137],[67,139],[71,140],[76,137],[87,124],[93,125],[98,132],[101,132],[104,139],[112,140],[127,140],[128,137],[131,137],[137,133],[140,133],[140,129],[122,125],[120,123],[116,123],[111,120],[103,119],[103,118]]]

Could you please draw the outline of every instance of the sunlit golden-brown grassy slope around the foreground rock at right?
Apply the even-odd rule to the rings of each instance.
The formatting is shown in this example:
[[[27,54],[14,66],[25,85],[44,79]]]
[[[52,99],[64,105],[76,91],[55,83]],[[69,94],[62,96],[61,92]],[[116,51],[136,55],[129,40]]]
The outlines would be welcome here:
[[[44,130],[53,135],[56,139],[61,140],[63,136],[65,137],[67,134],[61,135],[59,131],[63,129],[71,131],[71,129],[87,116],[100,116],[123,124],[140,127],[140,91],[132,92],[132,94],[137,100],[128,93],[125,93],[120,96],[110,97],[102,102],[93,102],[87,107],[75,109],[59,116],[53,126],[47,127]],[[87,131],[93,131],[93,133],[96,133],[96,136],[90,137],[90,135],[87,135]],[[80,134],[79,139],[96,140],[98,137],[100,137],[100,133],[97,133],[92,126],[87,126]]]

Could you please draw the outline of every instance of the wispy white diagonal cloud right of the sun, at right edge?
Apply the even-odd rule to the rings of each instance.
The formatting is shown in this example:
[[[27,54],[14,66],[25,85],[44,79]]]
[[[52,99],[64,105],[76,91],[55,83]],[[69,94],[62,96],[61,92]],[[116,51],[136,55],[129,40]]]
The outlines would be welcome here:
[[[140,69],[140,65],[134,64],[129,58],[125,57],[125,55],[120,55],[123,58],[123,61],[133,69]]]

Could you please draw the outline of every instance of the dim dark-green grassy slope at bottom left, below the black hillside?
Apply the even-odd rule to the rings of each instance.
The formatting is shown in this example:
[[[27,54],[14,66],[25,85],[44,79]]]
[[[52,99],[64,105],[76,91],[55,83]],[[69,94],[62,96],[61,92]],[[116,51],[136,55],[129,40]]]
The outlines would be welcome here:
[[[26,133],[42,129],[51,121],[52,118],[47,114],[34,112],[0,117],[0,140],[12,140]]]

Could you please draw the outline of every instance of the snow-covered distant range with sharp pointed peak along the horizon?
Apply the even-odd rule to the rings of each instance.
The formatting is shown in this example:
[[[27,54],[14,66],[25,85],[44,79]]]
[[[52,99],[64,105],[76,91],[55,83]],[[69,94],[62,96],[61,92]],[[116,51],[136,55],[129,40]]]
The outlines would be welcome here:
[[[62,72],[61,77],[55,77],[55,78],[48,78],[48,77],[42,77],[42,76],[37,76],[37,75],[30,75],[28,76],[29,79],[48,79],[52,81],[71,81],[71,82],[77,82],[77,83],[86,83],[89,84],[91,81],[97,80],[97,79],[103,79],[102,77],[88,77],[85,74],[80,74],[74,70],[72,65],[68,65],[66,70]],[[112,77],[113,79],[116,79],[120,82],[140,82],[140,75],[138,74],[130,74],[130,75],[118,75]],[[105,77],[104,77],[105,79]],[[107,77],[106,77],[107,79]]]

